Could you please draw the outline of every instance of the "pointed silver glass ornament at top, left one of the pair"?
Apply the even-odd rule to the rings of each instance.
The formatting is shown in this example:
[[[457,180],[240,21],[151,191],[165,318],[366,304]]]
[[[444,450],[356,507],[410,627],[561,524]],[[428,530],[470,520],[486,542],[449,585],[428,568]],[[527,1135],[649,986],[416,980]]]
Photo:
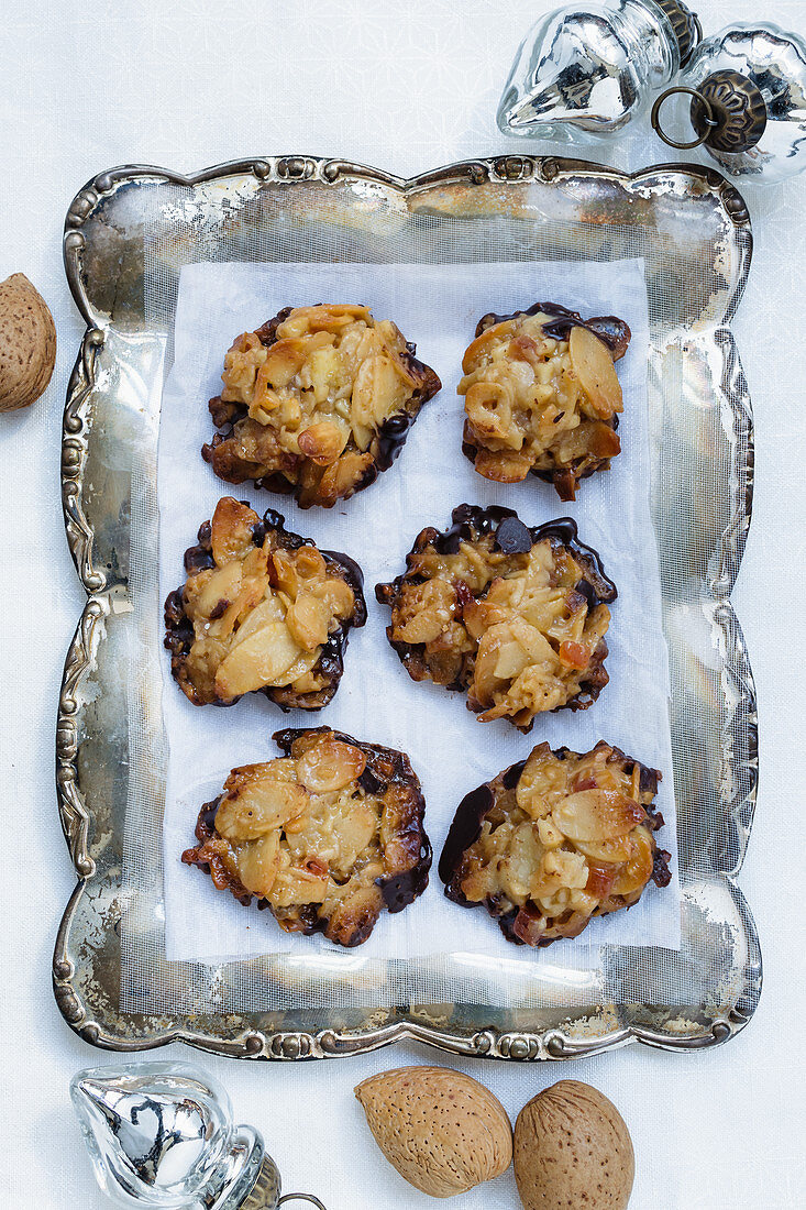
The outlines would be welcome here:
[[[687,62],[702,31],[681,0],[594,0],[539,21],[503,88],[505,134],[588,142],[623,129]]]

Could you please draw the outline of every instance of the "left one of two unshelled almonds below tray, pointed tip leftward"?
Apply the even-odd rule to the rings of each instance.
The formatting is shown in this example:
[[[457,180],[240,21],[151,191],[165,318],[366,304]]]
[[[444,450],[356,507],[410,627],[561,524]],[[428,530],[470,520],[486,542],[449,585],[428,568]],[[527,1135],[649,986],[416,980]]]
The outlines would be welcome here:
[[[466,1193],[512,1162],[503,1106],[461,1072],[398,1067],[363,1081],[356,1096],[390,1164],[433,1198]]]

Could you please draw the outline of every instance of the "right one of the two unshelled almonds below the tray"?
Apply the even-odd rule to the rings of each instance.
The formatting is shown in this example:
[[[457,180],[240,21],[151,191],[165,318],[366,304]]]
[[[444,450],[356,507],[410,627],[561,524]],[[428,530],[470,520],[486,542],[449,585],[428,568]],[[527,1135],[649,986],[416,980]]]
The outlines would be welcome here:
[[[635,1176],[629,1131],[595,1088],[562,1079],[518,1114],[514,1171],[524,1210],[624,1210]]]

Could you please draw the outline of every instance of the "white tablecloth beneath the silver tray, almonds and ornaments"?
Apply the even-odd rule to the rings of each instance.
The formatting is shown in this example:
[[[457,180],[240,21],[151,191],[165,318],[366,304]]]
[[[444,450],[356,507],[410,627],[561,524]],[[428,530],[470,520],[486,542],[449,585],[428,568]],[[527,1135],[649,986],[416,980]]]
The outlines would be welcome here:
[[[309,151],[415,173],[508,144],[494,108],[541,0],[28,0],[4,6],[0,39],[0,278],[25,272],[59,334],[53,381],[28,413],[0,417],[5,674],[0,748],[6,859],[0,877],[0,1203],[10,1210],[104,1210],[67,1093],[81,1066],[111,1061],[62,1021],[50,991],[53,937],[73,888],[53,791],[62,664],[84,593],[59,505],[59,430],[82,324],[63,275],[64,212],[116,163],[194,171],[223,160]],[[754,0],[702,0],[706,30],[752,21]],[[767,19],[806,24],[804,0]],[[512,144],[522,149],[522,144]],[[551,151],[551,145],[528,145]],[[580,152],[621,167],[669,161],[646,122]],[[696,155],[696,152],[692,152]],[[683,156],[681,156],[683,157]],[[790,1210],[802,1204],[802,478],[806,445],[806,177],[747,191],[756,250],[736,333],[755,403],[754,522],[735,605],[760,701],[761,791],[741,885],[765,957],[765,991],[732,1043],[693,1056],[629,1048],[583,1064],[457,1062],[513,1118],[563,1077],[595,1083],[624,1114],[638,1158],[631,1210]],[[800,736],[800,738],[799,738]],[[793,750],[793,744],[796,745]],[[784,822],[785,820],[785,822]],[[791,826],[790,820],[794,820]],[[370,1142],[352,1087],[405,1062],[450,1058],[398,1047],[307,1065],[235,1064],[180,1047],[259,1127],[284,1187],[328,1210],[431,1205]],[[511,1176],[454,1203],[517,1208]]]

